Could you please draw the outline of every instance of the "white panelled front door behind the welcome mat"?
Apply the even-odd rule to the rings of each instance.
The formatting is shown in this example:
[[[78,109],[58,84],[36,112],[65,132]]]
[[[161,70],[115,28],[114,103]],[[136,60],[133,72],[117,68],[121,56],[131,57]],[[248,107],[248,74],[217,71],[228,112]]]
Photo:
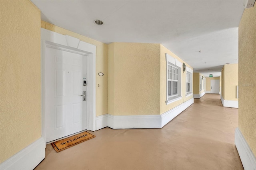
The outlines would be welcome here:
[[[87,56],[46,47],[46,142],[86,129]],[[87,80],[86,80],[87,81]]]

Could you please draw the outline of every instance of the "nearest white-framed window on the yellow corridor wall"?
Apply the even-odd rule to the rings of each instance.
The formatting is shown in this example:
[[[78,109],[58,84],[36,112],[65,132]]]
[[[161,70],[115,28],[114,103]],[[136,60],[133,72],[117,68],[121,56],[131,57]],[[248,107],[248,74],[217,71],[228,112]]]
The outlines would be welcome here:
[[[180,61],[166,54],[166,105],[182,99],[181,68]]]

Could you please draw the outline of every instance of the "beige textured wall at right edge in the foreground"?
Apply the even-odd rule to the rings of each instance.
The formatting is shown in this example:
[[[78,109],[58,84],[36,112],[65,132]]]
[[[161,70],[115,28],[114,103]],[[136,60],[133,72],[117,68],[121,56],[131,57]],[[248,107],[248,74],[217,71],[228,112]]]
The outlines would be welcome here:
[[[244,10],[238,30],[238,127],[256,156],[256,5]]]

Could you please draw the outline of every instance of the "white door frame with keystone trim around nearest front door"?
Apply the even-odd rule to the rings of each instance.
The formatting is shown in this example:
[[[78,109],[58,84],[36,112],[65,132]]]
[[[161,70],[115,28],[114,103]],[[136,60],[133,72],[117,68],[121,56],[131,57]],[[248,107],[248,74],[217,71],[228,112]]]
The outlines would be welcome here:
[[[45,50],[47,46],[54,46],[57,49],[72,51],[88,56],[87,62],[87,84],[88,92],[87,98],[87,130],[96,130],[96,45],[82,42],[78,38],[68,35],[58,34],[50,30],[41,28],[41,90],[42,90],[42,136],[44,137],[46,145],[46,119],[45,119],[45,103],[46,103],[46,63],[45,63]]]

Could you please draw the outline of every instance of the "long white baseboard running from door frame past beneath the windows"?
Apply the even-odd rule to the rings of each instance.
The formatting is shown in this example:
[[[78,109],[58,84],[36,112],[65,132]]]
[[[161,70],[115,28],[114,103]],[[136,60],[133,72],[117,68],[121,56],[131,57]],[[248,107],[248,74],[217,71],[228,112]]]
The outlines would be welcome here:
[[[162,115],[113,116],[106,114],[98,116],[96,117],[96,130],[104,127],[110,127],[113,129],[162,128],[193,103],[194,99],[189,99]]]

